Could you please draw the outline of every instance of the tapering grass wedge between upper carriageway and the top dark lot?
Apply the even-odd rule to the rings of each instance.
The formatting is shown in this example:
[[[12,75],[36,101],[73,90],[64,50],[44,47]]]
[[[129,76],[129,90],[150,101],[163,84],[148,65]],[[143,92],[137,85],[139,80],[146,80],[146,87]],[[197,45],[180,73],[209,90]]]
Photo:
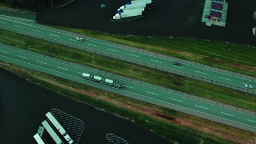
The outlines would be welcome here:
[[[52,26],[256,77],[256,47],[189,38],[135,37]]]

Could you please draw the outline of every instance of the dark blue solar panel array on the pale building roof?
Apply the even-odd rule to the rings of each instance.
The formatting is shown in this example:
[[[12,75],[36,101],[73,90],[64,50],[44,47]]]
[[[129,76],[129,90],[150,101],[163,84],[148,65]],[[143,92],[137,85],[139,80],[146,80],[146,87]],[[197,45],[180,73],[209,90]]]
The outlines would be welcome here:
[[[218,18],[222,18],[224,0],[212,0],[210,15]]]

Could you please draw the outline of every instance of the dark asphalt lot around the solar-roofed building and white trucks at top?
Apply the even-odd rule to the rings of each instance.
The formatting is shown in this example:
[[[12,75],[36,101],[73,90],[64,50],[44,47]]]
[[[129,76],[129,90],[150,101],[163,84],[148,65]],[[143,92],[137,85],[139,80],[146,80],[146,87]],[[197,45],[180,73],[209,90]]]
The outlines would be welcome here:
[[[132,22],[110,22],[113,13],[128,0],[76,0],[59,10],[37,14],[36,21],[66,27],[94,29],[124,35],[189,37],[256,45],[253,10],[256,2],[228,2],[226,27],[208,27],[201,22],[205,0],[160,0],[146,9],[144,17]],[[101,8],[100,5],[106,7]]]

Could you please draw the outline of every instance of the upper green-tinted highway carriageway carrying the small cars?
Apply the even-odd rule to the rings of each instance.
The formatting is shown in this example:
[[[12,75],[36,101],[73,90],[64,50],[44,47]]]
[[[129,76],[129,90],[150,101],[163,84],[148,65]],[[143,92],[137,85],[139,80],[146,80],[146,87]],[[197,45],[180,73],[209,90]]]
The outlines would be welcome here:
[[[0,16],[0,28],[9,27],[17,31],[31,33],[40,37],[50,38],[60,43],[74,44],[88,49],[98,50],[111,55],[116,55],[124,58],[133,59],[135,61],[157,65],[159,67],[182,71],[184,73],[192,74],[195,76],[204,77],[206,79],[227,83],[237,87],[245,88],[245,84],[256,86],[256,81],[243,79],[241,77],[220,73],[201,67],[182,63],[180,66],[173,65],[170,59],[161,58],[147,53],[124,49],[123,47],[113,46],[101,43],[100,41],[85,39],[84,41],[75,40],[74,35],[56,32],[50,29],[34,26],[33,23],[12,17]],[[254,88],[255,89],[255,88]],[[250,89],[252,90],[252,89]],[[254,90],[255,91],[255,90]]]

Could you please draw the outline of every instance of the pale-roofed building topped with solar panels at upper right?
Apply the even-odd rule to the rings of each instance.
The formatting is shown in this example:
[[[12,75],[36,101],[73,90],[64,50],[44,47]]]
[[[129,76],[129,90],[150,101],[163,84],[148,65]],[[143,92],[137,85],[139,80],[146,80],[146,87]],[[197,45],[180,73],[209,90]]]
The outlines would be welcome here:
[[[228,3],[225,0],[206,0],[202,22],[205,22],[206,26],[217,25],[225,27],[227,12]]]

